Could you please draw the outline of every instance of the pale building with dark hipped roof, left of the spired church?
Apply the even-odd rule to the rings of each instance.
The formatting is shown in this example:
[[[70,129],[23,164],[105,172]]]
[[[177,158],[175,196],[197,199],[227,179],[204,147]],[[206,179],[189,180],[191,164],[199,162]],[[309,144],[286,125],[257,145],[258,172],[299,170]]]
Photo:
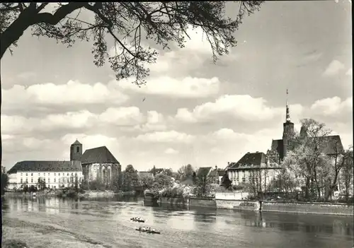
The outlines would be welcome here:
[[[278,163],[264,153],[246,153],[238,162],[229,163],[227,173],[233,185],[255,182],[263,189],[280,172]]]

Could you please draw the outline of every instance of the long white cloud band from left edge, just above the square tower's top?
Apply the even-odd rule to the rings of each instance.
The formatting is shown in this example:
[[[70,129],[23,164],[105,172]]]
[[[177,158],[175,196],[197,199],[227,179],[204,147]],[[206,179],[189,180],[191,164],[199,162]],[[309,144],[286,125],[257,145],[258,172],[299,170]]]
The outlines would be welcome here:
[[[94,114],[88,110],[67,112],[64,114],[49,114],[43,118],[22,117],[18,115],[1,115],[1,128],[4,134],[30,134],[33,131],[77,130],[92,129],[93,127],[128,126],[134,129],[142,125],[145,129],[154,130],[154,126],[161,125],[164,119],[158,112],[148,112],[147,117],[138,107],[109,107],[101,114]],[[24,125],[25,124],[25,125]]]

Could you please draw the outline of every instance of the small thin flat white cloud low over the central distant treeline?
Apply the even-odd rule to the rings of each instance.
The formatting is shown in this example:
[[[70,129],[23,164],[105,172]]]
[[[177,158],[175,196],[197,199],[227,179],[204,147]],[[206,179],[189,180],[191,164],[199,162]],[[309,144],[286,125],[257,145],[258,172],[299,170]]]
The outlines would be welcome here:
[[[190,143],[194,141],[194,136],[179,133],[177,131],[156,131],[153,133],[140,134],[136,138],[138,141],[156,143]]]

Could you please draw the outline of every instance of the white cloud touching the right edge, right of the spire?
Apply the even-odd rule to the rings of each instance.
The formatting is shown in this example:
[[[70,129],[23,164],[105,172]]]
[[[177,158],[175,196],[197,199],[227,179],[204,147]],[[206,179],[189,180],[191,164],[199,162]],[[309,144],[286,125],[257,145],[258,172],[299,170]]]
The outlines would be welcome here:
[[[316,114],[323,114],[324,116],[332,116],[342,112],[353,111],[353,97],[342,101],[341,98],[325,98],[316,100],[311,106],[311,110]]]

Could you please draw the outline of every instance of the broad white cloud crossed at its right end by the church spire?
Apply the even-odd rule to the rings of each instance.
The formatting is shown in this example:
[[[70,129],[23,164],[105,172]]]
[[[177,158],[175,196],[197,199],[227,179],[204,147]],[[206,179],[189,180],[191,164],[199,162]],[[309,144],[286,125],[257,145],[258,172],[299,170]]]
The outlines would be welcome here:
[[[263,121],[284,114],[284,107],[270,107],[263,98],[250,95],[222,95],[215,102],[205,102],[194,110],[177,110],[176,119],[181,122],[202,122],[221,116],[234,117],[244,121]],[[293,114],[302,112],[301,105],[290,105]]]

